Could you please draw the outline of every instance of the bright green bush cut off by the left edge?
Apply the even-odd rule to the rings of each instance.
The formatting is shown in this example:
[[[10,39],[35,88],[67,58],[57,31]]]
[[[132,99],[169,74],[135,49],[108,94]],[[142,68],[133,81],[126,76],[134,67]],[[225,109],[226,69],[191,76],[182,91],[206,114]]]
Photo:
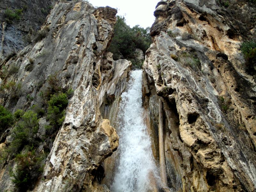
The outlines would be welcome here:
[[[0,105],[0,133],[2,133],[13,122],[12,113]]]

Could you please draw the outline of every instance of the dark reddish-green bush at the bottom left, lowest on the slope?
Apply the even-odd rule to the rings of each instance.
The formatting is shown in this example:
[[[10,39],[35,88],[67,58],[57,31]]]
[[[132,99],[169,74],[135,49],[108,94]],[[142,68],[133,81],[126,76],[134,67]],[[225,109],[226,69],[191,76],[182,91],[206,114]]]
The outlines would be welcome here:
[[[36,154],[35,150],[29,150],[16,156],[17,167],[15,172],[11,171],[12,182],[19,191],[32,189],[38,175],[43,172],[44,162],[47,154]]]

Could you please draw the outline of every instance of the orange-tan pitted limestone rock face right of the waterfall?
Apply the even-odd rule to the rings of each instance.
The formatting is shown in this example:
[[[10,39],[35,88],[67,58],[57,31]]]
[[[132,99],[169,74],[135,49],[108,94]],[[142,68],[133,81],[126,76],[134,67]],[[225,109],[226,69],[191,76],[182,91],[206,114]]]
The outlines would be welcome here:
[[[203,0],[156,6],[144,105],[157,130],[158,98],[163,102],[167,178],[175,191],[256,188],[256,82],[239,51],[240,41],[255,36],[255,19],[240,14],[254,15],[255,7],[239,2],[232,17],[235,2],[228,9]]]

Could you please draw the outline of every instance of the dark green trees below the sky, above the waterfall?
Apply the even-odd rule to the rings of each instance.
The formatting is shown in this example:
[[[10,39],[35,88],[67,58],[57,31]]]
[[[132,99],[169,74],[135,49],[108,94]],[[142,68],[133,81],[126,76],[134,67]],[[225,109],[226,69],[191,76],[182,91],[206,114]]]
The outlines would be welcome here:
[[[125,23],[125,18],[117,16],[114,27],[114,37],[109,51],[113,53],[113,59],[118,60],[120,55],[124,58],[134,53],[136,48],[141,49],[144,54],[151,44],[149,27],[144,29],[139,25],[130,28]]]

